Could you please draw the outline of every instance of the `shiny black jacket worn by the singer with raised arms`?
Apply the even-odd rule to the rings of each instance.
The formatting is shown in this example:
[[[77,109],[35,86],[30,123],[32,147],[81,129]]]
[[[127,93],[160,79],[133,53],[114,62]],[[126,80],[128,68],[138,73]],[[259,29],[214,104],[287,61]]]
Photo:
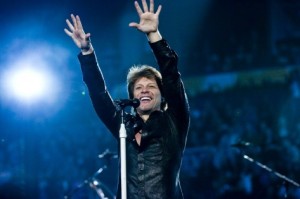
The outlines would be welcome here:
[[[177,69],[178,57],[165,40],[150,43],[162,74],[165,111],[151,113],[144,123],[126,113],[127,198],[183,198],[179,172],[189,128],[189,106]],[[83,80],[101,121],[119,140],[120,114],[106,89],[95,54],[79,55]],[[141,145],[134,140],[135,127],[142,129]],[[120,184],[118,187],[120,198]]]

